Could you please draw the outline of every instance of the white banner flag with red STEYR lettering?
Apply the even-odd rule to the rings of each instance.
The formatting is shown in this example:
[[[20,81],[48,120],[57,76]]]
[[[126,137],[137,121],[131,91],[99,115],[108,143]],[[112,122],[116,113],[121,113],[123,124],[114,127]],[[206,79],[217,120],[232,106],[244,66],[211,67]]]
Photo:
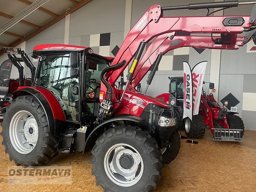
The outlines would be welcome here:
[[[192,69],[193,115],[198,115],[206,65],[207,61],[202,61],[197,63]]]

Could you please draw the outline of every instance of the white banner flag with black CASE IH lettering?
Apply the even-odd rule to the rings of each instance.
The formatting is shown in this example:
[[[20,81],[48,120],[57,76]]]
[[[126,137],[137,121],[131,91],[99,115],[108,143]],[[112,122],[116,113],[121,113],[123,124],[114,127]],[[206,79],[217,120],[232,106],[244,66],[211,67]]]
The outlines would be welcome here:
[[[187,62],[183,62],[184,68],[184,110],[183,119],[188,117],[192,121],[192,76],[191,69]]]

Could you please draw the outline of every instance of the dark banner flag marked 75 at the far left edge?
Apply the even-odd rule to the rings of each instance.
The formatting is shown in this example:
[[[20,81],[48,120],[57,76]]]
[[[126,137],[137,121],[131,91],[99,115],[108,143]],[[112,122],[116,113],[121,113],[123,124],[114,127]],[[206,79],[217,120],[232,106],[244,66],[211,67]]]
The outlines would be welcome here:
[[[0,95],[6,95],[11,76],[12,62],[5,60],[0,66]]]

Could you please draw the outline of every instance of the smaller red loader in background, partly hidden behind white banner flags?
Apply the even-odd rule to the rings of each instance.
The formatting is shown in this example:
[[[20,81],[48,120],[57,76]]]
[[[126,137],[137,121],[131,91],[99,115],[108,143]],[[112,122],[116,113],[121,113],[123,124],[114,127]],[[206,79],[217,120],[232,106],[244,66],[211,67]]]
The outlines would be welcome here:
[[[183,116],[183,97],[184,97],[184,78],[169,77],[169,93],[157,95],[156,98],[162,100],[172,107],[177,114],[177,123],[181,128],[184,127],[185,133],[189,138],[200,139],[204,136],[205,126],[207,126],[213,135],[213,140],[241,141],[244,135],[244,123],[237,112],[228,111],[227,108],[220,106],[214,99],[213,94],[201,94],[198,115],[193,116],[193,122],[190,119],[182,119]],[[205,83],[205,82],[204,82]],[[208,82],[210,83],[210,82]],[[209,84],[209,89],[214,89],[214,84]],[[224,103],[228,105],[228,101]]]

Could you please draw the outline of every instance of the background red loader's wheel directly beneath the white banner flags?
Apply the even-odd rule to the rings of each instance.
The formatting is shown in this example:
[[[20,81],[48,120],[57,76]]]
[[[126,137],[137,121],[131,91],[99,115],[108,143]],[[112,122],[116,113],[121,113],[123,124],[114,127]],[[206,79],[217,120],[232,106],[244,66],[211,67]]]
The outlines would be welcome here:
[[[187,137],[193,139],[201,139],[204,136],[205,124],[201,114],[193,116],[193,122],[189,118],[184,121],[185,133]]]

